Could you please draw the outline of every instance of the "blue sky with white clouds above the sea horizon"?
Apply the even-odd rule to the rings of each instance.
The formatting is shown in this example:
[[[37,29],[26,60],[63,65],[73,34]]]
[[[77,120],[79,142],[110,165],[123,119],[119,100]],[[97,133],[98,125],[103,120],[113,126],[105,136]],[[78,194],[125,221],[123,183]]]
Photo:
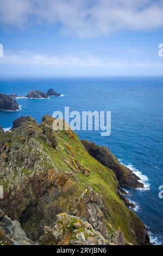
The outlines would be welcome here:
[[[163,0],[0,0],[0,44],[0,76],[162,76]]]

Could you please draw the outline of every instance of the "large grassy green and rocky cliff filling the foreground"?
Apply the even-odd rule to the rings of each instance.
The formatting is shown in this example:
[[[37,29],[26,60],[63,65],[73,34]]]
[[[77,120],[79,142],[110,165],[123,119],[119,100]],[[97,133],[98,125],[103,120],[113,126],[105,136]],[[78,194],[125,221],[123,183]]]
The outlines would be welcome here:
[[[93,159],[75,133],[54,132],[47,115],[41,124],[23,120],[0,133],[0,209],[20,221],[29,239],[52,245],[149,243],[141,220],[118,197],[115,173]]]

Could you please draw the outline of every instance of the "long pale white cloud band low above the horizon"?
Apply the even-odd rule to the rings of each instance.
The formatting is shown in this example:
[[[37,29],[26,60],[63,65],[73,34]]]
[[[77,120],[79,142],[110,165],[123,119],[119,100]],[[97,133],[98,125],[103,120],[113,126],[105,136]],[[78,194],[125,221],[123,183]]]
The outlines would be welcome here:
[[[139,62],[136,60],[117,60],[117,59],[100,59],[93,56],[78,57],[65,56],[59,57],[54,55],[40,54],[29,51],[20,51],[17,53],[5,52],[4,57],[0,58],[0,65],[12,66],[74,66],[74,67],[159,67],[162,63]]]

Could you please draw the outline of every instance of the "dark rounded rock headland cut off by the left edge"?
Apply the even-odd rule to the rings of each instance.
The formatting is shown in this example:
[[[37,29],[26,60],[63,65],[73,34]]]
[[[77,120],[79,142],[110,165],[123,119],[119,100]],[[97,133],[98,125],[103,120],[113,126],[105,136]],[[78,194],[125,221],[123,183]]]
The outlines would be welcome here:
[[[18,109],[20,108],[15,100],[8,95],[0,94],[0,111],[16,111]]]

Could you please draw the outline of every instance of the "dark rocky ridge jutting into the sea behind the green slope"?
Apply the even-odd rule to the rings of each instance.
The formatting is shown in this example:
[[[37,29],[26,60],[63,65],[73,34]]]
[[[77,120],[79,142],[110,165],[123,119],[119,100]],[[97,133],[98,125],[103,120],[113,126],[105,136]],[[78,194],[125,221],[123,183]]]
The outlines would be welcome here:
[[[139,182],[140,178],[137,177],[132,170],[123,166],[123,164],[121,164],[117,158],[111,154],[109,149],[86,140],[82,140],[82,144],[92,157],[114,171],[120,186],[133,188],[143,187],[143,184]]]

